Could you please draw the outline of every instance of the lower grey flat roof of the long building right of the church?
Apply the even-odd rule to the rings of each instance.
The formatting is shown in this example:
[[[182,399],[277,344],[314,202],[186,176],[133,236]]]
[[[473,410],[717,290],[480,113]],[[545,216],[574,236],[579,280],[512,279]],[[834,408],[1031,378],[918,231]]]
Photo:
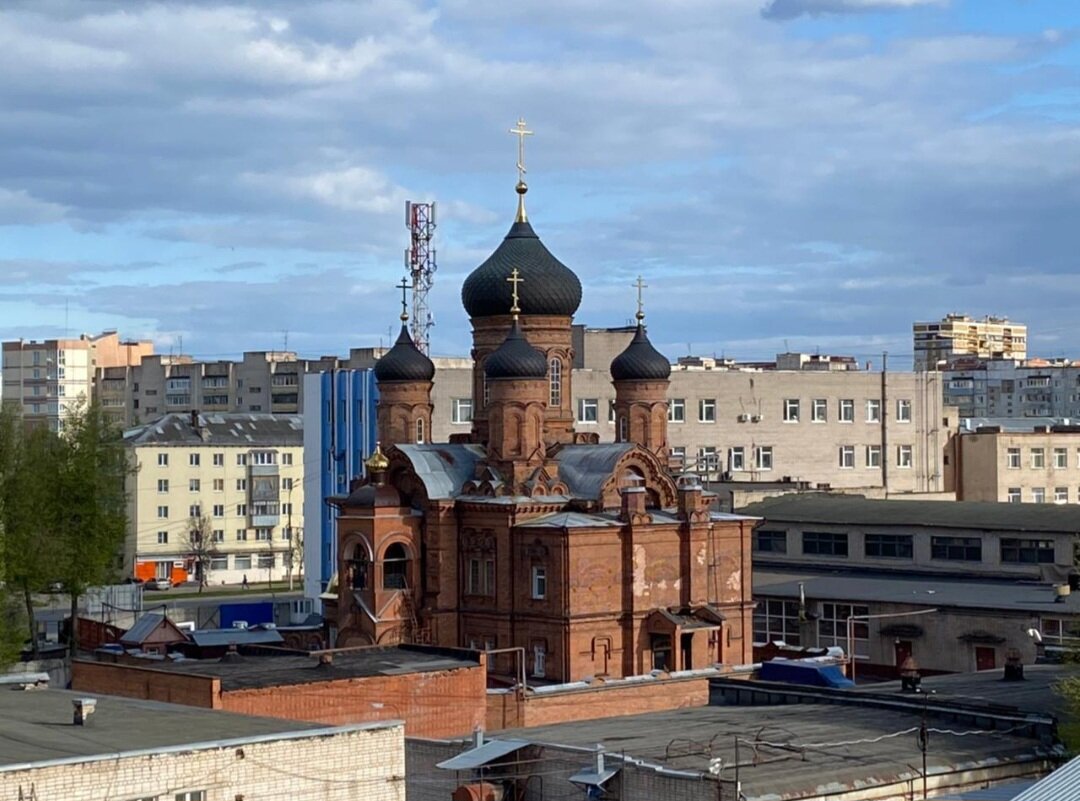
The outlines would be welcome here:
[[[1054,600],[1051,584],[1002,579],[956,579],[935,575],[887,576],[855,570],[793,568],[754,571],[754,595],[798,598],[799,584],[813,600],[906,603],[913,607],[959,607],[1028,614],[1080,614],[1080,593]]]

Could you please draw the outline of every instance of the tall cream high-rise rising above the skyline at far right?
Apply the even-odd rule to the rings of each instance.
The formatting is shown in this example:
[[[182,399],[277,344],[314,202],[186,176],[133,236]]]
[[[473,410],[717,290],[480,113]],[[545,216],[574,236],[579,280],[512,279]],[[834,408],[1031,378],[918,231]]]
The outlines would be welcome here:
[[[1027,357],[1027,326],[1005,317],[947,314],[936,323],[915,323],[912,332],[916,370],[941,369],[960,356]]]

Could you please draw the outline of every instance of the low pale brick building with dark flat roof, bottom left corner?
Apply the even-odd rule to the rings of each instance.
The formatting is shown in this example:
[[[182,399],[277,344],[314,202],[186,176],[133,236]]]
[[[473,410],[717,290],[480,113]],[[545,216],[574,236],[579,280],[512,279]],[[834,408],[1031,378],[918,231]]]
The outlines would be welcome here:
[[[400,801],[404,745],[400,722],[327,727],[63,690],[0,692],[9,799]],[[333,765],[333,776],[316,765]]]

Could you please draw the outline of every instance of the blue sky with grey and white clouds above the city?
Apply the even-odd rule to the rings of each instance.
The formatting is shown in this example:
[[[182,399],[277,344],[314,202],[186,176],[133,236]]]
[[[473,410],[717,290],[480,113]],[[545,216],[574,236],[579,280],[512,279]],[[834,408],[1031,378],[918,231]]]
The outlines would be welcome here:
[[[910,367],[912,323],[1080,357],[1080,3],[5,0],[0,339],[303,356],[397,326],[438,203],[434,354],[529,218],[576,321]]]

